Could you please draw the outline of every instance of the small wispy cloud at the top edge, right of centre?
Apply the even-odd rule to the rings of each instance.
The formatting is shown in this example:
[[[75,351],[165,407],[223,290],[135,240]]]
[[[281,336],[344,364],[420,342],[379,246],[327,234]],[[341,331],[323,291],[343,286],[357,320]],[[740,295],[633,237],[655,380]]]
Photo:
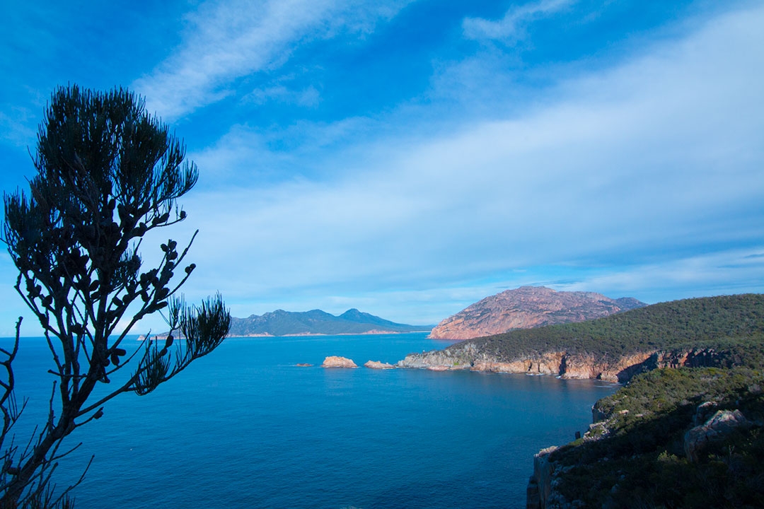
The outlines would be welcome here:
[[[498,21],[484,18],[466,18],[463,24],[465,37],[469,39],[497,39],[505,42],[526,37],[525,27],[531,21],[549,16],[569,7],[576,0],[538,0],[525,5],[513,6]]]

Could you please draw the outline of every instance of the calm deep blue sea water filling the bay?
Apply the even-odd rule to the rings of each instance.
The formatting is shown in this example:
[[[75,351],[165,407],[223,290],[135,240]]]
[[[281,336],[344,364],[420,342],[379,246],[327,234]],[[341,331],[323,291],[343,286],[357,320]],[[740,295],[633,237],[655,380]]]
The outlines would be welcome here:
[[[18,392],[34,421],[50,398],[50,354],[22,342]],[[617,386],[319,367],[329,355],[393,363],[448,344],[426,333],[229,338],[151,395],[108,403],[67,438],[83,445],[54,478],[75,480],[95,454],[78,509],[525,507],[533,454],[586,430],[591,405]]]

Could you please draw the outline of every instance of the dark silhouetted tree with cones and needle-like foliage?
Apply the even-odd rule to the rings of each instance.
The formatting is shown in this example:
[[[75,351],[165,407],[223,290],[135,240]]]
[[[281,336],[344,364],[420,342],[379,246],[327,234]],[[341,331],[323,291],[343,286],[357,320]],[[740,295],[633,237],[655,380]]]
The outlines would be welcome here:
[[[37,135],[37,175],[28,195],[5,195],[2,238],[18,267],[15,288],[47,338],[53,397],[30,446],[4,445],[0,507],[49,503],[46,472],[62,456],[64,437],[101,417],[106,401],[153,391],[227,335],[230,315],[220,295],[198,307],[176,296],[195,267],[186,253],[196,234],[182,251],[174,240],[163,243],[151,268],[138,251],[148,232],[186,218],[176,199],[198,172],[184,159],[182,141],[133,93],[76,85],[53,93]],[[170,335],[128,352],[126,335],[156,312]],[[23,409],[13,398],[17,349],[18,325],[15,346],[2,350],[0,362],[3,439]],[[112,379],[113,387],[105,386]]]

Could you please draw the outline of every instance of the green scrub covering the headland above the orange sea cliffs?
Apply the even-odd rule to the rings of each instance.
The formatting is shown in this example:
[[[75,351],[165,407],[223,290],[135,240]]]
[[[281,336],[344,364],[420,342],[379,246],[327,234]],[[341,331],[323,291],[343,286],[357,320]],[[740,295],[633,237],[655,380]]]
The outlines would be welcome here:
[[[663,302],[598,320],[512,330],[472,342],[481,352],[506,361],[560,351],[612,360],[637,352],[712,348],[736,359],[725,361],[724,367],[761,366],[764,295]]]

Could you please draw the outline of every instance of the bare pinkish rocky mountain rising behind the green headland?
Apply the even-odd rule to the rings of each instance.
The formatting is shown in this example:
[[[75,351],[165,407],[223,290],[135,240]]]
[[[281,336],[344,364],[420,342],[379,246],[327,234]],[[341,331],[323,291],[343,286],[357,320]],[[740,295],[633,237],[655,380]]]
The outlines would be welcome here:
[[[593,320],[645,306],[635,298],[612,299],[594,292],[555,292],[521,286],[491,295],[438,324],[430,337],[468,340],[513,329]]]

